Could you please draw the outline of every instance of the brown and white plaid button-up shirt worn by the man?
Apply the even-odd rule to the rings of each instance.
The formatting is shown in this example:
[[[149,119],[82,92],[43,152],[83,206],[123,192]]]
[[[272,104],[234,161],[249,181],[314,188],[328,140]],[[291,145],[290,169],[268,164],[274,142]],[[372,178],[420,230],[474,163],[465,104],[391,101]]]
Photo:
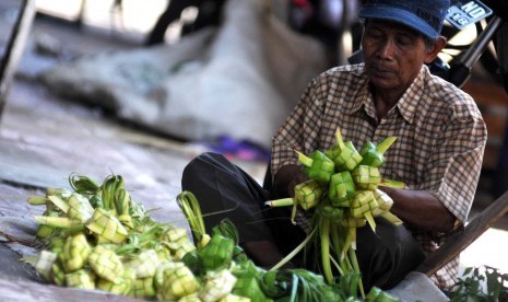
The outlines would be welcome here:
[[[364,65],[330,69],[315,78],[300,102],[273,137],[272,175],[285,164],[296,164],[293,150],[310,153],[335,143],[339,127],[344,141],[358,148],[365,141],[398,137],[385,153],[385,177],[400,179],[412,189],[435,194],[458,219],[468,219],[482,169],[486,127],[474,100],[454,85],[430,74],[424,66],[413,84],[380,120]],[[298,213],[308,231],[308,213]],[[451,234],[413,231],[424,251],[433,252]],[[456,281],[459,257],[432,279],[440,288]]]

